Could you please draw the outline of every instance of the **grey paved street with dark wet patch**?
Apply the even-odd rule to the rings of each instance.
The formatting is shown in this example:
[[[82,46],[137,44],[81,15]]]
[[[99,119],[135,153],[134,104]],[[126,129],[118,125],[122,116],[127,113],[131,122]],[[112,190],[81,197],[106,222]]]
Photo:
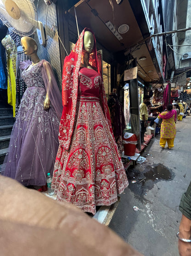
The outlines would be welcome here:
[[[174,149],[161,149],[158,135],[141,154],[146,161],[128,169],[129,187],[110,223],[112,230],[145,256],[179,255],[179,203],[191,181],[191,116],[177,122],[176,128]],[[134,211],[133,206],[140,210]]]

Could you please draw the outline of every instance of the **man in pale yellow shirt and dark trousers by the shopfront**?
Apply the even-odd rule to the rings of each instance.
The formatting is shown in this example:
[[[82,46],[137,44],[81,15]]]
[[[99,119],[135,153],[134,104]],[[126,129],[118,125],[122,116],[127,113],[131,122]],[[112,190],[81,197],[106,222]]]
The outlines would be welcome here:
[[[148,122],[148,112],[146,107],[146,102],[150,101],[150,96],[145,95],[143,97],[143,102],[140,104],[140,142],[142,145],[147,146],[146,143],[144,143],[144,134],[147,127]]]

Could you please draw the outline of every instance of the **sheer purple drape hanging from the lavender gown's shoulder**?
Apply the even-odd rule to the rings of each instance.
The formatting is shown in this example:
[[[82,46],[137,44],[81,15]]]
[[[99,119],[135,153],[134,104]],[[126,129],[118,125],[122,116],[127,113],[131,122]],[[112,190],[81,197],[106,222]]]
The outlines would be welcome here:
[[[60,120],[62,116],[62,95],[58,88],[51,64],[47,61],[43,61],[40,68],[45,83],[46,92],[48,93],[51,104]]]

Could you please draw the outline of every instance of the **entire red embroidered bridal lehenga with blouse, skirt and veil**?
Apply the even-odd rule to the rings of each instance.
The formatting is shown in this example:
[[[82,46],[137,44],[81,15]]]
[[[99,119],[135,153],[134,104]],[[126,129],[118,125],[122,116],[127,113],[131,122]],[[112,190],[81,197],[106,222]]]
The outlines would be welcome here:
[[[118,200],[117,194],[128,186],[128,180],[112,134],[101,76],[79,67],[83,36],[84,31],[72,56],[65,60],[64,106],[52,187],[57,200],[95,214],[96,205],[111,205]],[[98,68],[96,57],[93,63]]]

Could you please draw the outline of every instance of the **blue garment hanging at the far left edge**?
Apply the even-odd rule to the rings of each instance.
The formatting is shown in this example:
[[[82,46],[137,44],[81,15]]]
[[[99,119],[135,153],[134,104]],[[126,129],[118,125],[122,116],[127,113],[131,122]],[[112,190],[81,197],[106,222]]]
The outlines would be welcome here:
[[[0,89],[7,89],[6,51],[1,40],[6,36],[8,28],[0,20]]]

